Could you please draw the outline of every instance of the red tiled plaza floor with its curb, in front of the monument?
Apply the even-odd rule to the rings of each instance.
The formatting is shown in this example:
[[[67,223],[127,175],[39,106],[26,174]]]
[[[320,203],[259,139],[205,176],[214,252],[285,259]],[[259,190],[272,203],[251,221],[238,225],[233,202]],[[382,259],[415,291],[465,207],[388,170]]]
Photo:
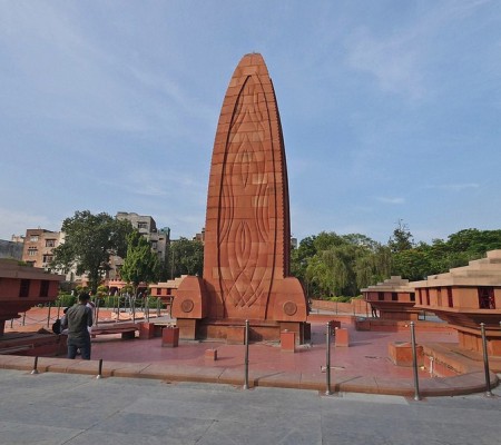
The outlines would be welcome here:
[[[107,315],[101,313],[102,317]],[[36,318],[35,314],[30,317]],[[110,317],[109,317],[110,318]],[[38,318],[47,320],[47,315]],[[155,319],[151,318],[150,322]],[[165,318],[164,318],[165,320]],[[19,322],[17,322],[19,323]],[[412,368],[393,365],[389,358],[389,344],[410,342],[410,333],[357,332],[350,323],[350,346],[331,352],[332,390],[414,394]],[[16,328],[16,326],[14,326]],[[6,330],[10,330],[6,328]],[[452,332],[418,332],[416,342],[436,357],[452,357],[464,374],[449,377],[431,376],[420,369],[422,395],[468,394],[484,390],[481,360],[472,354],[458,352],[456,335]],[[208,359],[206,350],[217,349],[217,359]],[[38,368],[48,372],[97,375],[102,358],[104,376],[147,377],[165,380],[218,382],[233,385],[244,383],[245,346],[217,342],[179,342],[178,347],[161,347],[161,337],[122,340],[119,335],[98,336],[92,339],[92,360],[40,357]],[[451,358],[451,360],[452,360]],[[325,324],[312,324],[312,345],[298,346],[295,353],[283,352],[278,343],[249,346],[249,386],[279,386],[325,390],[326,374]],[[494,360],[495,362],[495,360]],[[495,362],[497,363],[497,362]],[[31,369],[33,357],[0,355],[0,368]],[[497,363],[498,366],[498,363]],[[491,373],[491,385],[498,378]]]

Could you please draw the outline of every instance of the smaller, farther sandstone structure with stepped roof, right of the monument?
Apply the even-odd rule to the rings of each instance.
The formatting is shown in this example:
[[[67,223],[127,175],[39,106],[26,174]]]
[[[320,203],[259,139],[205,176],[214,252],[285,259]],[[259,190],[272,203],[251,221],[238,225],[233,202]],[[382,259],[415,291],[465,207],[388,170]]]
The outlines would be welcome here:
[[[380,317],[393,320],[416,320],[421,313],[414,307],[415,293],[409,279],[395,276],[362,289],[364,299]]]

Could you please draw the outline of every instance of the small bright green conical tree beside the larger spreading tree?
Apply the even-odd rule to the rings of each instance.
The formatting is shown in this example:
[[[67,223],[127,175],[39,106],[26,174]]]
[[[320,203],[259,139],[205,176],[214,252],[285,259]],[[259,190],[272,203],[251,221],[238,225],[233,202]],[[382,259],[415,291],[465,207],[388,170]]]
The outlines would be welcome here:
[[[121,278],[132,285],[134,295],[137,296],[139,284],[158,280],[158,274],[159,261],[151,244],[134,230],[127,236],[127,256],[120,270]]]

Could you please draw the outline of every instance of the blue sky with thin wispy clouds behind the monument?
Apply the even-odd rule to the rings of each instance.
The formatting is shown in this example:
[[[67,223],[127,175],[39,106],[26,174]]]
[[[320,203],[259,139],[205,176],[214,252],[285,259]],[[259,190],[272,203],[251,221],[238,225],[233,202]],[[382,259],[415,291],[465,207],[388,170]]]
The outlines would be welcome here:
[[[199,231],[248,52],[274,81],[295,237],[501,228],[500,1],[0,0],[0,238],[87,209]]]

